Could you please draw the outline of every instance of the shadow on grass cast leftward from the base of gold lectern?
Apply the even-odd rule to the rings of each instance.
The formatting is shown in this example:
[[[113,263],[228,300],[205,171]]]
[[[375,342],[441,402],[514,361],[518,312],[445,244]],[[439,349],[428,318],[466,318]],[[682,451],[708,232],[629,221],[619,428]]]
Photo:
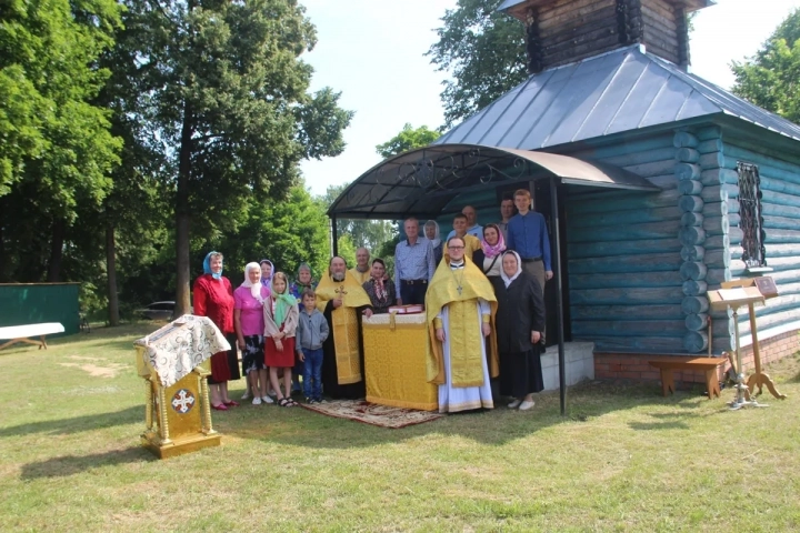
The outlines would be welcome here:
[[[66,477],[103,466],[151,463],[153,461],[158,461],[158,459],[141,446],[92,453],[90,455],[63,455],[23,465],[20,477],[23,480]]]

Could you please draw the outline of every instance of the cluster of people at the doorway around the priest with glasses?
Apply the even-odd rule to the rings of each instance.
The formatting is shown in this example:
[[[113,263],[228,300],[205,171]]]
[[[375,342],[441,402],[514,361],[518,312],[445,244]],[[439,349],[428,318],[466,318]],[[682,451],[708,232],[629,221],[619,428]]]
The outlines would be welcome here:
[[[428,376],[439,385],[442,412],[492,408],[498,375],[512,409],[531,409],[532,394],[543,390],[548,229],[523,189],[502,200],[500,213],[500,222],[481,227],[476,209],[464,207],[443,242],[436,221],[420,237],[419,222],[408,219],[396,250],[398,304],[426,305]]]

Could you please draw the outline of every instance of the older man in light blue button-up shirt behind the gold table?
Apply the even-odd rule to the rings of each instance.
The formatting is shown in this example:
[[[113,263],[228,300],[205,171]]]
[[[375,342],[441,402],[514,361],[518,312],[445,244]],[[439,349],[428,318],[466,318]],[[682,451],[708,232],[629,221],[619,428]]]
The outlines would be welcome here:
[[[419,221],[413,217],[403,222],[406,240],[394,248],[394,289],[398,305],[423,304],[428,282],[433,278],[433,247],[419,234]]]

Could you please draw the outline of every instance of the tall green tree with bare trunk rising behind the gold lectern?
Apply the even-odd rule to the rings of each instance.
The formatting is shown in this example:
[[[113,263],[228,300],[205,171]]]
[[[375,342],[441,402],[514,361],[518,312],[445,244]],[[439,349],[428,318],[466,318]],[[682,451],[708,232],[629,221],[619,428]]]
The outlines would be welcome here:
[[[316,30],[296,0],[127,0],[126,50],[146,139],[169,161],[176,301],[189,308],[190,228],[236,230],[253,193],[284,198],[303,158],[339,154],[352,113],[331,89],[309,93],[299,58]],[[203,240],[203,239],[200,239]]]

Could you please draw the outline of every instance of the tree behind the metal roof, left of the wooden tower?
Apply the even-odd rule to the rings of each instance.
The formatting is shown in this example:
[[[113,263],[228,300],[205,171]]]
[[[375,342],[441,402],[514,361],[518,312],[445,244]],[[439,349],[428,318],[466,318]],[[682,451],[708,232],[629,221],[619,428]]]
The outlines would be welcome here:
[[[451,128],[528,78],[524,26],[500,13],[502,0],[458,0],[427,54],[446,72],[441,100]]]

